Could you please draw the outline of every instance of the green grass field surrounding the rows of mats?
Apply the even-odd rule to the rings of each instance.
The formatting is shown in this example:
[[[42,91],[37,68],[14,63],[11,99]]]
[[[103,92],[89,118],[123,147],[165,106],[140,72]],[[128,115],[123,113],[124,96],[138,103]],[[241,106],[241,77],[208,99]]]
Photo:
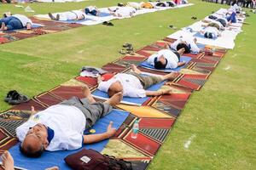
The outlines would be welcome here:
[[[36,14],[47,14],[118,2],[29,5]],[[192,16],[202,19],[227,7],[197,0],[190,3],[195,5],[113,20],[113,27],[82,26],[0,45],[0,99],[11,89],[30,97],[40,94],[77,76],[83,65],[100,67],[118,59],[124,42],[142,48],[174,32],[169,25],[189,26],[194,22]],[[8,10],[23,14],[24,9],[13,4],[0,5],[0,14]],[[236,48],[225,55],[201,91],[189,99],[150,170],[256,169],[256,15],[248,14],[251,16],[246,21],[250,25],[243,26]],[[9,108],[0,101],[1,111]]]

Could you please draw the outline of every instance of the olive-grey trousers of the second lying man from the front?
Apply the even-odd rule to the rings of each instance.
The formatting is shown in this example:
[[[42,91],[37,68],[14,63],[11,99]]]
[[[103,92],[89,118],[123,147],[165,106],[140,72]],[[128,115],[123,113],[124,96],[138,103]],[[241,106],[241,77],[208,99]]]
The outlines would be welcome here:
[[[128,74],[137,77],[142,83],[144,89],[147,89],[150,86],[163,81],[161,77],[144,76],[141,74],[137,74],[136,72],[129,72]]]

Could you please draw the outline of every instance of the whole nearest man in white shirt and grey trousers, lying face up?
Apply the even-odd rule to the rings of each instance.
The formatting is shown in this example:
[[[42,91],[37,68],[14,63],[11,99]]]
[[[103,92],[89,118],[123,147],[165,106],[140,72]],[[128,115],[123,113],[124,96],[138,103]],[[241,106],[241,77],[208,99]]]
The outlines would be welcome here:
[[[38,157],[44,150],[76,150],[83,144],[108,139],[116,132],[110,122],[106,133],[84,135],[84,129],[92,127],[98,119],[112,111],[118,105],[122,93],[114,94],[110,99],[96,102],[90,89],[83,88],[84,99],[73,97],[58,105],[49,106],[16,128],[20,140],[20,152],[25,156]]]

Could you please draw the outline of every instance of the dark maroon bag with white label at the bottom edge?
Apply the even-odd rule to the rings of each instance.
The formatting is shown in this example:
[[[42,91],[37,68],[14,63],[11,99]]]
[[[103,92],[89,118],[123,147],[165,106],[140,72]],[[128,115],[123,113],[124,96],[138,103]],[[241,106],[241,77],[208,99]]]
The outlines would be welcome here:
[[[69,167],[76,170],[132,170],[131,162],[102,155],[96,150],[80,150],[64,159]]]

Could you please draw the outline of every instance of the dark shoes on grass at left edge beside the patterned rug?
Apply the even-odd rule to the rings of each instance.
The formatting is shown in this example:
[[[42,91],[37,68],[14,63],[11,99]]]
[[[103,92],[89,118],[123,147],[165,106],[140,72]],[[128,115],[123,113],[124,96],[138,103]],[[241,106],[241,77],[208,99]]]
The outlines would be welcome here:
[[[28,102],[29,98],[26,95],[19,94],[16,90],[11,90],[4,99],[9,105],[18,105]]]

